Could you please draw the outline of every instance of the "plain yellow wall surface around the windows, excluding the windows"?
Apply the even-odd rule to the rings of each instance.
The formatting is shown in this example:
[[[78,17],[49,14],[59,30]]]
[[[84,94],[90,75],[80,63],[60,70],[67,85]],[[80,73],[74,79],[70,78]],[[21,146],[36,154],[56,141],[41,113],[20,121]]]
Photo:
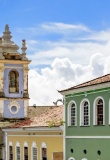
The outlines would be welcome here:
[[[32,134],[32,133],[31,133]],[[32,159],[32,153],[31,153],[31,147],[32,147],[32,142],[36,142],[37,145],[37,154],[38,154],[38,160],[41,159],[41,144],[42,142],[46,143],[46,147],[47,147],[47,159],[48,160],[52,160],[52,156],[53,156],[53,152],[63,152],[63,137],[61,135],[52,135],[51,133],[49,133],[49,135],[45,136],[45,132],[42,135],[17,135],[14,136],[13,133],[13,137],[12,136],[8,136],[8,144],[11,141],[13,144],[13,152],[14,152],[14,159],[16,159],[16,153],[15,153],[15,146],[16,146],[16,142],[18,141],[20,143],[20,147],[21,147],[21,158],[23,159],[23,146],[24,146],[24,142],[28,143],[28,159]],[[35,134],[35,132],[34,132]],[[47,132],[46,132],[47,134]],[[55,134],[55,133],[54,133]],[[7,152],[8,153],[8,152]]]

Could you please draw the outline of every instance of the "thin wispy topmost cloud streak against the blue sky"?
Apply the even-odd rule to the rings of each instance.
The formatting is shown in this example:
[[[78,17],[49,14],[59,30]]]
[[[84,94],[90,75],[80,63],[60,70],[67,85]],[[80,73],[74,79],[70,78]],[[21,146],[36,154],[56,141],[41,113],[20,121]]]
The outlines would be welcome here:
[[[82,24],[65,24],[65,23],[55,23],[55,22],[49,22],[49,23],[42,23],[39,25],[35,25],[33,27],[27,27],[27,28],[17,28],[16,32],[19,34],[26,35],[26,37],[40,37],[47,36],[47,35],[62,35],[62,36],[72,36],[76,34],[80,34],[84,32],[91,33],[91,30],[82,25]],[[28,34],[27,34],[28,33]]]

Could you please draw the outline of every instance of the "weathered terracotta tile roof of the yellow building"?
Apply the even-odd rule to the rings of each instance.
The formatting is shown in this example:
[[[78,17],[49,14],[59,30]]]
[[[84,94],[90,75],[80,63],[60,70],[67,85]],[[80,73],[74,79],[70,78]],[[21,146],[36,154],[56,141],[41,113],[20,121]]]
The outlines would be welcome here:
[[[55,126],[59,125],[59,121],[63,119],[63,106],[57,106],[55,108],[48,109],[45,113],[39,116],[24,120],[15,125],[9,126],[8,128],[20,128],[20,127],[47,127],[49,122],[54,121]]]

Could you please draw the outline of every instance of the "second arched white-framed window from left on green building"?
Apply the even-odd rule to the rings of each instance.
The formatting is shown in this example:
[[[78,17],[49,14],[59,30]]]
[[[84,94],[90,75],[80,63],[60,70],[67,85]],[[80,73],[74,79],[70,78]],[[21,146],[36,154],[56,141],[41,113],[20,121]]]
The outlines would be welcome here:
[[[80,118],[81,126],[90,125],[90,105],[87,99],[83,100],[80,104]]]

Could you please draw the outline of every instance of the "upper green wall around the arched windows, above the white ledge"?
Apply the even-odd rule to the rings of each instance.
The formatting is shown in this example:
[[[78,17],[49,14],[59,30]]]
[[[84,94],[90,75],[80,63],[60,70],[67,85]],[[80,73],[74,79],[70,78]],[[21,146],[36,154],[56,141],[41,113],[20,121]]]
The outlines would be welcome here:
[[[94,100],[97,97],[102,97],[104,99],[105,104],[105,125],[97,126],[93,124],[94,119]],[[88,99],[90,102],[90,126],[80,126],[80,103],[83,99]],[[68,104],[70,101],[74,100],[77,105],[77,126],[68,126]],[[85,93],[79,95],[73,95],[68,98],[66,98],[66,115],[65,115],[65,122],[66,122],[66,135],[67,136],[73,136],[73,135],[109,135],[109,100],[110,100],[110,90],[106,91],[96,91],[95,93],[91,92],[86,95]],[[73,132],[74,130],[74,132]]]

